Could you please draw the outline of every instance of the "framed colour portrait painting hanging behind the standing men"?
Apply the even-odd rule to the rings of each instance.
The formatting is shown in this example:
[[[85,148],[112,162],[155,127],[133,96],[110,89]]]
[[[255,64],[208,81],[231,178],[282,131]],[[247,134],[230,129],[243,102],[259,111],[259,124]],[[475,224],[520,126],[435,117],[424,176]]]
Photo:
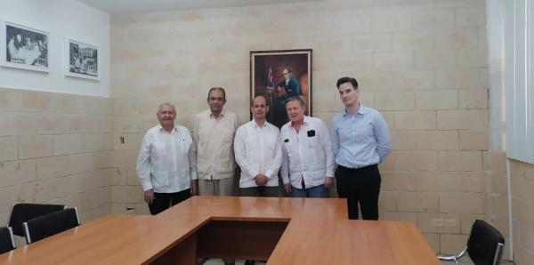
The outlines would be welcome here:
[[[312,49],[250,52],[250,99],[258,94],[269,101],[267,121],[279,128],[289,120],[289,97],[302,97],[312,116]]]

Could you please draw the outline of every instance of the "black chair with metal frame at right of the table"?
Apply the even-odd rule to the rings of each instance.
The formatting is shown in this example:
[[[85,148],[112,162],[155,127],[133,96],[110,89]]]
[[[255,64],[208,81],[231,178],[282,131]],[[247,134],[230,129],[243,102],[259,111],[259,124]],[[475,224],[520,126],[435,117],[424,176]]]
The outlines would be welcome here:
[[[457,260],[468,253],[469,258],[476,265],[498,265],[502,261],[504,247],[505,237],[498,229],[486,221],[475,220],[465,248],[456,255],[438,255],[438,258],[442,261],[455,261],[456,264],[459,264]]]

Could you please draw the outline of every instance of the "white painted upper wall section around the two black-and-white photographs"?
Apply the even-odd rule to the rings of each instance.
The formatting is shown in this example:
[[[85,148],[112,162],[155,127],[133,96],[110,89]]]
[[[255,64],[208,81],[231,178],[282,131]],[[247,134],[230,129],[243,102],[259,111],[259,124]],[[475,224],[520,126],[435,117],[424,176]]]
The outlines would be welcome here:
[[[50,72],[0,67],[0,87],[109,97],[108,13],[77,0],[3,0],[0,20],[50,33]],[[99,46],[100,81],[64,75],[65,36]]]

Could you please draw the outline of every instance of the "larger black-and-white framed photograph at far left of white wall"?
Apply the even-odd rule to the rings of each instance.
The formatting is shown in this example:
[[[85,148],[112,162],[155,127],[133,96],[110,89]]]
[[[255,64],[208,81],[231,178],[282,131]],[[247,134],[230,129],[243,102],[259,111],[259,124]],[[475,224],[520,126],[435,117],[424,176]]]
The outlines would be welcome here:
[[[3,31],[4,66],[48,72],[49,33],[8,21]]]

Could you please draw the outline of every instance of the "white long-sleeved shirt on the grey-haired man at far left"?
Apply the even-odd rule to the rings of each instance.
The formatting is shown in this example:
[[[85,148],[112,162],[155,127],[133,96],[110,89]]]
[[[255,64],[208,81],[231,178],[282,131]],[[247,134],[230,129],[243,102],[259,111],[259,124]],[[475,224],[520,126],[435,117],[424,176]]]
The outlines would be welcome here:
[[[197,157],[187,128],[174,125],[167,132],[160,124],[150,128],[142,138],[137,157],[137,177],[142,189],[158,193],[174,193],[190,189],[197,180]]]

